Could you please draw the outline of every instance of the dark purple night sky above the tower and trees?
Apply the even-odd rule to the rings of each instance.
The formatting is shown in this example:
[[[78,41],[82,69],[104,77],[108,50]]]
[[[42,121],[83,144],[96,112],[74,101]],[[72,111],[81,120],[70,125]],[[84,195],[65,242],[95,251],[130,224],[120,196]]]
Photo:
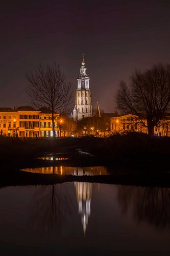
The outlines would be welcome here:
[[[76,89],[84,53],[92,104],[113,112],[120,79],[170,63],[168,0],[6,0],[0,14],[0,106],[29,104],[25,74],[40,63],[59,63]]]

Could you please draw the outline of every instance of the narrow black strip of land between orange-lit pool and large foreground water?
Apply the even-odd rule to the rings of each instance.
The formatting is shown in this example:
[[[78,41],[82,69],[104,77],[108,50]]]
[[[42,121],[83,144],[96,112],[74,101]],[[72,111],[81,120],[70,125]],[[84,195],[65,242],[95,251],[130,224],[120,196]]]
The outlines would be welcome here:
[[[106,183],[118,185],[135,185],[135,186],[157,186],[170,187],[170,174],[122,174],[122,175],[95,175],[95,176],[72,176],[58,174],[37,174],[27,173],[21,170],[12,169],[4,170],[1,176],[0,186],[16,185],[48,185],[64,182],[90,182]]]

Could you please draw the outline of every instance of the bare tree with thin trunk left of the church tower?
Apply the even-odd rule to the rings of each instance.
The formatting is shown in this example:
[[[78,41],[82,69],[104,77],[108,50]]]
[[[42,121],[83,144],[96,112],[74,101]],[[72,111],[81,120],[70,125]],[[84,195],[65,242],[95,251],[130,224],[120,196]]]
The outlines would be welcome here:
[[[43,68],[41,65],[26,74],[28,81],[27,93],[36,108],[48,108],[51,111],[53,137],[55,137],[55,118],[58,113],[70,110],[72,99],[71,83],[55,63],[53,67]]]

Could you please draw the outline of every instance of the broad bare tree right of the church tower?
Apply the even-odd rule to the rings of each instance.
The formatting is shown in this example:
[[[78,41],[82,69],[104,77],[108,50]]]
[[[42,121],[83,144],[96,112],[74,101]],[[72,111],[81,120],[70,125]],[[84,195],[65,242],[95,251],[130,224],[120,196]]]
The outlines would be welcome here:
[[[137,115],[148,133],[154,134],[154,127],[170,107],[170,65],[158,64],[143,73],[136,71],[129,87],[120,81],[117,107],[123,114]]]

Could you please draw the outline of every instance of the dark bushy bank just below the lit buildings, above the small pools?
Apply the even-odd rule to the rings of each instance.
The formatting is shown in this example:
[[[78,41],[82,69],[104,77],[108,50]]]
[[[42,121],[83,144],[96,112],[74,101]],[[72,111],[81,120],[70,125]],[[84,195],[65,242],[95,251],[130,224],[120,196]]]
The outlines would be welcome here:
[[[34,158],[39,153],[54,152],[65,153],[68,158],[72,155],[79,159],[78,152],[86,152],[113,164],[117,161],[152,161],[155,163],[170,162],[170,138],[149,137],[145,134],[129,133],[127,135],[114,135],[107,138],[82,137],[82,138],[38,138],[38,139],[16,139],[0,138],[1,163],[4,160],[12,159],[13,164],[19,160]]]

